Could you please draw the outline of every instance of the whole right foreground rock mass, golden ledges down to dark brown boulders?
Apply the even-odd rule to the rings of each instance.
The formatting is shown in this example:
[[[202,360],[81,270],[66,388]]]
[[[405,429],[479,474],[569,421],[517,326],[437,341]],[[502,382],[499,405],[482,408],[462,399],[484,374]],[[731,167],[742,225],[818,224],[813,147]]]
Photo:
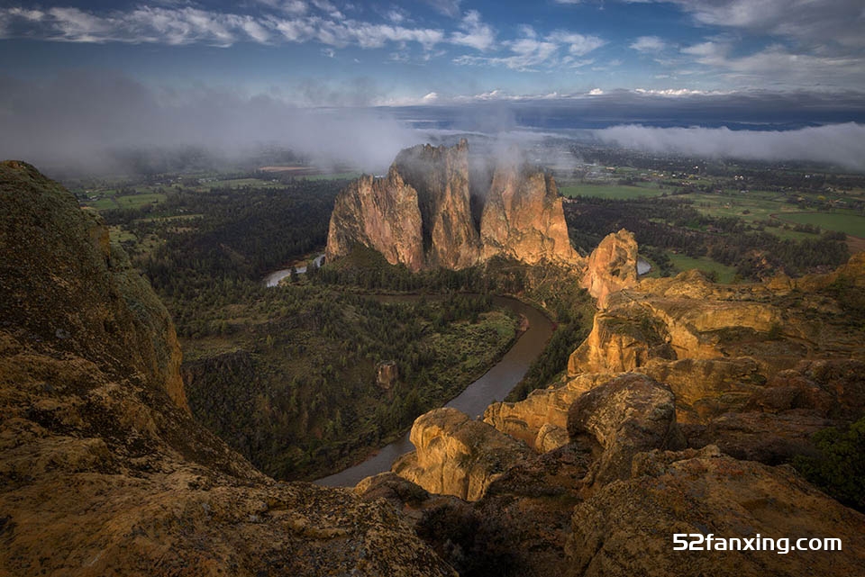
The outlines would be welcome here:
[[[853,257],[807,279],[721,286],[688,273],[610,293],[567,380],[484,414],[541,455],[502,452],[495,475],[478,475],[490,481],[471,503],[417,499],[421,488],[397,491],[392,478],[370,482],[365,494],[403,503],[418,534],[465,574],[855,572],[865,563],[865,516],[787,464],[815,455],[816,431],[865,413],[865,327],[845,312],[861,314],[850,309],[860,306],[855,293],[851,304],[844,292],[863,278],[865,258]],[[479,423],[434,420],[434,434],[415,441],[428,474],[409,477],[433,492],[444,478],[465,479],[475,455],[501,443],[484,429],[470,451],[448,451],[452,437]],[[676,533],[836,537],[843,550],[692,556],[673,551]],[[484,569],[471,564],[478,560]]]

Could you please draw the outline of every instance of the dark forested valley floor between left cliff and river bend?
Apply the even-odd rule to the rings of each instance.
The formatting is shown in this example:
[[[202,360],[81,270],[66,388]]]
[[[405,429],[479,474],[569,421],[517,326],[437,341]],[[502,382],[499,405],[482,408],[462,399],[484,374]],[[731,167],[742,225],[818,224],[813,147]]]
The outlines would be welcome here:
[[[323,246],[342,184],[182,189],[158,207],[105,212],[174,317],[196,419],[281,479],[359,460],[483,374],[516,332],[516,319],[481,296],[364,295],[370,271],[402,278],[389,265],[345,284],[312,267],[312,279],[265,287],[266,273]],[[410,282],[452,293],[460,275]],[[389,388],[377,384],[382,362],[398,374]]]

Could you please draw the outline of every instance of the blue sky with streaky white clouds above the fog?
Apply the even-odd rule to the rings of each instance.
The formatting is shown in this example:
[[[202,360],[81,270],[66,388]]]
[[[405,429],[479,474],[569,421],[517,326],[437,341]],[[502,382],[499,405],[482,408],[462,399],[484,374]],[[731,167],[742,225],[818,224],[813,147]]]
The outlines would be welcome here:
[[[861,0],[0,3],[0,74],[112,70],[300,105],[865,92]]]

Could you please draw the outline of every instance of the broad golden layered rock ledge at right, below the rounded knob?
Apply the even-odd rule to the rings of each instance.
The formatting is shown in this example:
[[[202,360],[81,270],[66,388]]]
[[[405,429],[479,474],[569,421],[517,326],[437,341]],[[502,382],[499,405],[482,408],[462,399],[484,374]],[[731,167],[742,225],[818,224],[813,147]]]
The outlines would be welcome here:
[[[857,262],[854,257],[844,267],[851,283]],[[807,358],[865,358],[865,344],[846,325],[843,302],[829,292],[715,285],[696,272],[647,279],[608,296],[571,355],[569,374],[631,371],[651,359],[745,356],[774,374]]]

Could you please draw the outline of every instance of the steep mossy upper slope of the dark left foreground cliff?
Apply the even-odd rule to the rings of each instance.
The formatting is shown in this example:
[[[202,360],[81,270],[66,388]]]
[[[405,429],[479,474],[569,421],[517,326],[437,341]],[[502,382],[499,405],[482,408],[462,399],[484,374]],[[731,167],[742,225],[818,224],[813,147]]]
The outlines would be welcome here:
[[[24,162],[0,163],[0,319],[36,351],[136,371],[188,412],[168,311],[96,212]]]

